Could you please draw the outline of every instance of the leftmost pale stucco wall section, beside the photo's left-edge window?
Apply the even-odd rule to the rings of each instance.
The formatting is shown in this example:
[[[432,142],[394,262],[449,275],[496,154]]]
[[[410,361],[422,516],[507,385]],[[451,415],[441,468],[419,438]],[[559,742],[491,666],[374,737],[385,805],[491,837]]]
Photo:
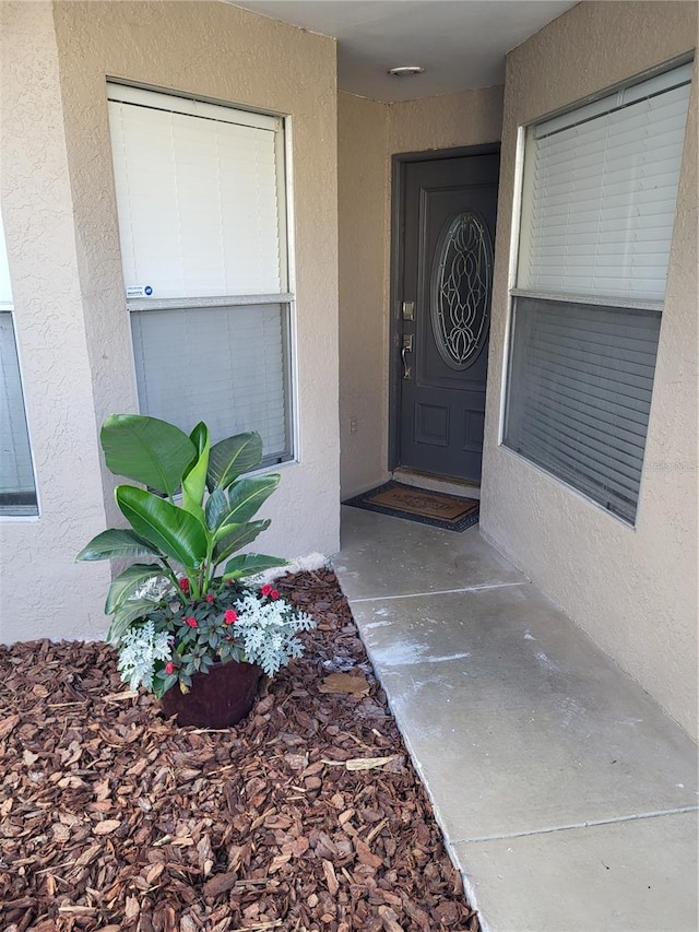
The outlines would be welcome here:
[[[2,216],[40,518],[0,519],[0,639],[104,629],[103,530],[83,303],[50,3],[0,4]]]

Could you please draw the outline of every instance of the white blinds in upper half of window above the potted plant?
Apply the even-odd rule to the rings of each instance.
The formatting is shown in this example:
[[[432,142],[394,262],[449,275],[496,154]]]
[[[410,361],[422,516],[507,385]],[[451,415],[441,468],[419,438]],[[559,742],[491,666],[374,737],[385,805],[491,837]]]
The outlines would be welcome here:
[[[108,92],[127,294],[286,292],[283,121],[118,84]]]

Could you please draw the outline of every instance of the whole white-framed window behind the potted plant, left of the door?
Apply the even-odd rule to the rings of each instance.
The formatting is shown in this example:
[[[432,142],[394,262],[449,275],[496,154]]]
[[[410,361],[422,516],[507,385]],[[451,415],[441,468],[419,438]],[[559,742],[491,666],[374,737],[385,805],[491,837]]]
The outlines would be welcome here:
[[[284,120],[108,85],[141,413],[292,456]]]

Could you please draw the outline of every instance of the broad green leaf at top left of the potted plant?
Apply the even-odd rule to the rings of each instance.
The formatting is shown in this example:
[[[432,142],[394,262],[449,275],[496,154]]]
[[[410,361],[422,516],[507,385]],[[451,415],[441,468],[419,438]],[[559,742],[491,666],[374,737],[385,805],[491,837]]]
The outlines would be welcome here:
[[[99,439],[115,475],[125,475],[170,498],[197,458],[197,449],[183,430],[141,414],[111,414],[102,426]]]

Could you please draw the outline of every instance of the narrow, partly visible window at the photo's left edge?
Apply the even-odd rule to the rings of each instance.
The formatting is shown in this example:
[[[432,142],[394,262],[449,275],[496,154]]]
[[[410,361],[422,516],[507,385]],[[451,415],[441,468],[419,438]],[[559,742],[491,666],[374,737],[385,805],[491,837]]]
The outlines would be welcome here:
[[[0,516],[38,515],[0,217]]]

